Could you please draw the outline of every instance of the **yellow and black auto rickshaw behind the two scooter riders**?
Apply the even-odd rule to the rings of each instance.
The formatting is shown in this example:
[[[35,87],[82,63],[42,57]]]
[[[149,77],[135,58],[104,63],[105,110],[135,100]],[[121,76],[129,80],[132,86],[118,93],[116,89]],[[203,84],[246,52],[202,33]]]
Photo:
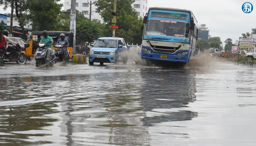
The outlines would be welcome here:
[[[49,37],[53,38],[53,46],[52,49],[56,49],[54,46],[57,40],[60,38],[60,34],[65,34],[65,39],[68,40],[69,47],[67,47],[69,53],[70,53],[70,58],[72,58],[72,50],[73,50],[73,37],[74,34],[73,32],[67,32],[67,31],[48,31]],[[27,57],[33,57],[35,54],[35,51],[39,47],[38,44],[41,40],[42,36],[42,31],[32,31],[29,38],[27,38],[26,43],[29,43],[29,45],[26,48],[26,51],[22,51]],[[55,42],[56,41],[56,42]]]

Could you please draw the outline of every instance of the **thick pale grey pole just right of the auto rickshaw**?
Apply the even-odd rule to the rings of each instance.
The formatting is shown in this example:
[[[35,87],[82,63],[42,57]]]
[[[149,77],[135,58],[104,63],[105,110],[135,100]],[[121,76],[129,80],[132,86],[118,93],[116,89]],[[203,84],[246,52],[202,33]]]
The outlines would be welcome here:
[[[76,0],[71,0],[70,31],[74,33],[72,54],[76,53]]]

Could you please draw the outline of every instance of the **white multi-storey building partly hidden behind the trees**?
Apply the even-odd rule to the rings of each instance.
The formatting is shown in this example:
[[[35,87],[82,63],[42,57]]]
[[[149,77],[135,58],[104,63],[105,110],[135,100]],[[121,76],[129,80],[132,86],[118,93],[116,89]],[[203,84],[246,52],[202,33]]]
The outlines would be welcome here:
[[[90,0],[88,0],[90,3]],[[84,14],[85,17],[90,18],[90,5],[87,0],[77,0],[76,9]],[[96,0],[92,0],[92,3]],[[114,6],[113,6],[114,7]],[[142,18],[145,16],[148,10],[148,0],[136,0],[132,7],[138,11],[138,15]],[[64,0],[64,10],[71,8],[71,0]],[[101,15],[96,13],[96,6],[94,4],[91,5],[91,19],[101,20],[103,22]]]

